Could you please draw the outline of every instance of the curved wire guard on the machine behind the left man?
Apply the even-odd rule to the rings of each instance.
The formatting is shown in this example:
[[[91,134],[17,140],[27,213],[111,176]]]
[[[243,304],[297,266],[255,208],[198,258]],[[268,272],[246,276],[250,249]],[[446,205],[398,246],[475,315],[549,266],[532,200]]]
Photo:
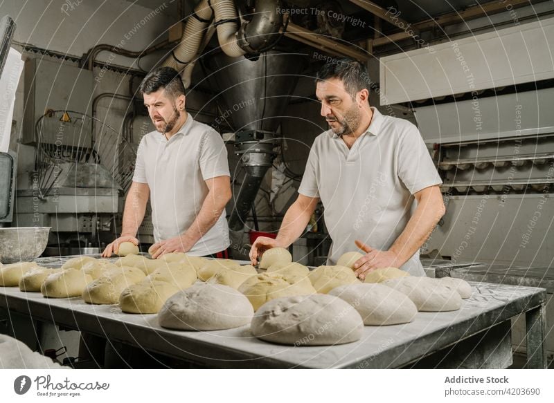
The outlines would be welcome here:
[[[129,189],[136,148],[118,131],[84,113],[48,110],[35,123],[39,197],[54,187]]]

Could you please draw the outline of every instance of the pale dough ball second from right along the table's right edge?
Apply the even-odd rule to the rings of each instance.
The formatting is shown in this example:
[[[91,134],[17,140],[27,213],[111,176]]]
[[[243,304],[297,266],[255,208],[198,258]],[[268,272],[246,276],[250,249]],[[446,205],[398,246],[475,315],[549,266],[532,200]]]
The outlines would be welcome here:
[[[384,281],[382,284],[406,294],[423,312],[445,312],[458,310],[462,306],[460,294],[441,284],[438,279],[428,277],[400,277]]]

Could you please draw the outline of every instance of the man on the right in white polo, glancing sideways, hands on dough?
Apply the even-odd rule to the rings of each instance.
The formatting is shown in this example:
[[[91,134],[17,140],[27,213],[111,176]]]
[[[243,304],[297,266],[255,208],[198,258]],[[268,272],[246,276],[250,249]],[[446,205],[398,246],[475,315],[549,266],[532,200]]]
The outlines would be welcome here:
[[[332,239],[329,265],[357,246],[366,252],[355,263],[360,279],[386,267],[424,276],[419,249],[445,206],[442,181],[418,129],[370,106],[368,73],[352,59],[321,68],[316,96],[330,130],[312,145],[298,198],[277,238],[253,243],[252,263],[265,250],[288,247],[301,236],[321,199]]]

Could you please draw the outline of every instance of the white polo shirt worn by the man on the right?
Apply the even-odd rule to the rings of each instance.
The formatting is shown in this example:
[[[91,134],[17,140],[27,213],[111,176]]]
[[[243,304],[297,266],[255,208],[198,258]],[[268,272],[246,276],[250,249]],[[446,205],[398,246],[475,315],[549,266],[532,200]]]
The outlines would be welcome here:
[[[356,239],[388,250],[411,217],[412,195],[442,183],[418,129],[371,110],[368,130],[351,149],[332,130],[315,139],[298,189],[321,198],[332,239],[330,265],[358,250]],[[424,276],[419,251],[401,269]]]

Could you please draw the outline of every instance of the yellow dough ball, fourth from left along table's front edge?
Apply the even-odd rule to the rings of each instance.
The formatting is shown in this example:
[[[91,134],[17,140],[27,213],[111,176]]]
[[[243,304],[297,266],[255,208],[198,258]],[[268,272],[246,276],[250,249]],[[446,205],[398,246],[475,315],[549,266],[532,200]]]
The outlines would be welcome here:
[[[138,272],[134,272],[138,270]],[[142,274],[142,277],[141,277]],[[106,304],[118,303],[119,296],[129,285],[139,283],[145,274],[137,269],[120,270],[119,273],[107,277],[100,277],[89,283],[82,292],[82,299],[87,303]]]

